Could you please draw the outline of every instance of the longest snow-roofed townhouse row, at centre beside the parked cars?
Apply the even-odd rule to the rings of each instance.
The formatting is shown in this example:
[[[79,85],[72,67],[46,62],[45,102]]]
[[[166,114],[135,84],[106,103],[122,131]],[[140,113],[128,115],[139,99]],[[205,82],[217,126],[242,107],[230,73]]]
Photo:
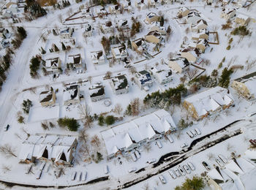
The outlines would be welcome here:
[[[109,160],[118,155],[125,155],[147,142],[153,142],[175,131],[176,124],[170,113],[157,110],[100,133],[105,142]]]

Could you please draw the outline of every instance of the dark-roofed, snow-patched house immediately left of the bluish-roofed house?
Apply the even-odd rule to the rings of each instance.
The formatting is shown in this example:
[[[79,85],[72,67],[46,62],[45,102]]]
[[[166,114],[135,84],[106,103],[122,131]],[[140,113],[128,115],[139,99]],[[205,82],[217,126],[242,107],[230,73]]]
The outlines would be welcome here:
[[[116,95],[126,94],[129,91],[129,85],[125,75],[118,75],[113,77],[110,80],[110,86]]]

